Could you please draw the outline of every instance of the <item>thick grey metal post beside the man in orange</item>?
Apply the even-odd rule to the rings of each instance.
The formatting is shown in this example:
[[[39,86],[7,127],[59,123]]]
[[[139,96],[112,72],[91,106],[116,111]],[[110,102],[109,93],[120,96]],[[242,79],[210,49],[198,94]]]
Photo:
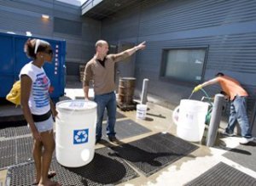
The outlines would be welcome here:
[[[216,94],[214,97],[211,121],[207,133],[207,146],[212,147],[218,132],[218,126],[221,120],[222,107],[224,105],[224,95]]]

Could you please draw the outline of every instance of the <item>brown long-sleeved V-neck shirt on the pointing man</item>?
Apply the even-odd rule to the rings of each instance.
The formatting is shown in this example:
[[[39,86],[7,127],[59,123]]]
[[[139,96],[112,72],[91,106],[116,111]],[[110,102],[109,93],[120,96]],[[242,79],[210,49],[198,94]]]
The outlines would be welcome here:
[[[94,82],[94,92],[96,95],[111,93],[115,89],[114,85],[114,64],[129,56],[128,53],[108,54],[105,59],[105,67],[94,56],[85,65],[84,86],[89,86],[89,82]]]

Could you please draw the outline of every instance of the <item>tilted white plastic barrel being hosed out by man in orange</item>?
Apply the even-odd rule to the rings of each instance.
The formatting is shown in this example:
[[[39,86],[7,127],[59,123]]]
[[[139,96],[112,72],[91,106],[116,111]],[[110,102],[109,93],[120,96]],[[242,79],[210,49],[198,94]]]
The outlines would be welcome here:
[[[201,141],[205,130],[208,105],[205,102],[191,99],[180,101],[178,117],[172,117],[177,124],[177,136],[179,138],[191,142]],[[176,112],[173,115],[176,115]]]

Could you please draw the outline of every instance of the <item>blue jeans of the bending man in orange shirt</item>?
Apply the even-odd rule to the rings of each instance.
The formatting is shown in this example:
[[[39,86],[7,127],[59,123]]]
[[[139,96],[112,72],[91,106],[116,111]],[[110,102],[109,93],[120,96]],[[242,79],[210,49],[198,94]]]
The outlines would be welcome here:
[[[236,127],[236,120],[241,127],[241,136],[251,138],[250,124],[247,117],[247,97],[236,96],[230,104],[230,119],[226,132],[233,133]]]

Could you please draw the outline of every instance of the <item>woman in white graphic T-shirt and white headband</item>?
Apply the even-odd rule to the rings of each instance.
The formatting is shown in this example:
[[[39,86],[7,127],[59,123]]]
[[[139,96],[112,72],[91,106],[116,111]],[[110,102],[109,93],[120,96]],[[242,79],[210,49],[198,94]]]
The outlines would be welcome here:
[[[52,115],[55,117],[57,111],[49,98],[50,82],[43,69],[46,61],[52,61],[53,51],[49,42],[40,39],[28,39],[24,51],[32,61],[20,70],[20,104],[32,131],[35,183],[41,186],[60,185],[49,180],[55,175],[55,172],[49,174],[49,166],[55,149]]]

